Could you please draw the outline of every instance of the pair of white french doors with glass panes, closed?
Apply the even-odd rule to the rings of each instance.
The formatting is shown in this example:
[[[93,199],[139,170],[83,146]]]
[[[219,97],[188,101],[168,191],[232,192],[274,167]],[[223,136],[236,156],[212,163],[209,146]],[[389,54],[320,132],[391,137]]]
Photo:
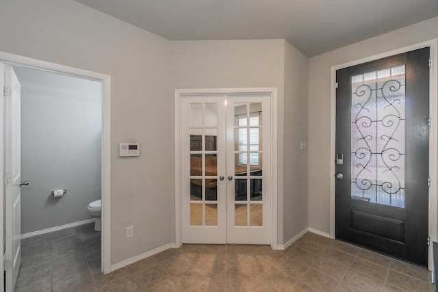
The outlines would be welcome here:
[[[183,243],[270,243],[270,94],[181,97]]]

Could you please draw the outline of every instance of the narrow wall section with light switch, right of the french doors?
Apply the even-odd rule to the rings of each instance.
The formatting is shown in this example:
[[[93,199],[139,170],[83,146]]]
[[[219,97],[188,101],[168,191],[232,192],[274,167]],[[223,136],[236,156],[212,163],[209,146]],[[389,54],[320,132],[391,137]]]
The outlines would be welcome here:
[[[307,143],[309,58],[285,42],[283,126],[283,243],[308,227]]]

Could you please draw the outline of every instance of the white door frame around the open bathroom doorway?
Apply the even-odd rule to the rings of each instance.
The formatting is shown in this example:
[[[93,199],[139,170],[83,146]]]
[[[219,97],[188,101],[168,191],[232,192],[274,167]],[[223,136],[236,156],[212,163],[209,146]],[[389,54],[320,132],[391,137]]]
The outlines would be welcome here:
[[[104,274],[111,271],[111,140],[110,140],[110,121],[111,121],[111,77],[97,72],[82,70],[51,62],[44,62],[38,59],[31,59],[20,55],[13,55],[0,51],[0,61],[12,66],[25,66],[36,70],[55,72],[62,75],[69,75],[92,81],[98,81],[102,84],[102,168],[101,168],[101,185],[102,185],[102,271]],[[0,72],[3,76],[3,72]],[[0,81],[3,88],[3,78]],[[1,94],[3,100],[3,94]],[[0,101],[1,107],[3,102]],[[0,125],[3,124],[3,110],[0,111]],[[3,153],[4,133],[3,127],[0,127],[0,153]],[[0,183],[3,185],[3,155],[0,155]],[[0,188],[0,250],[3,250],[3,188]],[[0,271],[3,271],[3,261],[0,261]],[[0,273],[0,287],[3,289],[3,272]]]

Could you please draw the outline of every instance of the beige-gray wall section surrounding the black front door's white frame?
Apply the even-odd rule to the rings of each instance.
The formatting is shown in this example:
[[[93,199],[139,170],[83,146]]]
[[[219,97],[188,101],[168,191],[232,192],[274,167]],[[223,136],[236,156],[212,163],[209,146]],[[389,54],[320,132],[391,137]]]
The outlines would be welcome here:
[[[330,232],[331,67],[438,38],[438,18],[310,58],[309,226]],[[433,56],[437,57],[437,56]],[[437,110],[437,109],[432,109]]]

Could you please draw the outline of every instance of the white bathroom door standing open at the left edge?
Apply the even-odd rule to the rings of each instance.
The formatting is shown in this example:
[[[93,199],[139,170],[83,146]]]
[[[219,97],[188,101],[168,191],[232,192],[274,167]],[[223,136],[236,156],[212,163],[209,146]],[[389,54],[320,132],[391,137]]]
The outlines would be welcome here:
[[[21,85],[12,66],[3,64],[5,116],[5,270],[13,291],[21,264]]]

